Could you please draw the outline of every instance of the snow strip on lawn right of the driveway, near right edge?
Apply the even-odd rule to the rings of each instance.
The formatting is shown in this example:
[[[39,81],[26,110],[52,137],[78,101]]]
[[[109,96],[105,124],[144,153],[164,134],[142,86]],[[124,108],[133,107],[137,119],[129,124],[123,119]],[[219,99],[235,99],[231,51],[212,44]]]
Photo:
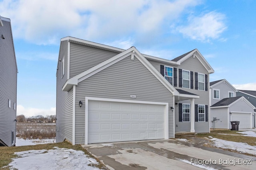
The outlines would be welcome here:
[[[209,138],[211,138],[210,140],[214,142],[213,146],[217,148],[236,150],[240,153],[248,153],[256,156],[256,146],[251,146],[242,142],[224,141],[222,139],[212,138],[210,136]]]

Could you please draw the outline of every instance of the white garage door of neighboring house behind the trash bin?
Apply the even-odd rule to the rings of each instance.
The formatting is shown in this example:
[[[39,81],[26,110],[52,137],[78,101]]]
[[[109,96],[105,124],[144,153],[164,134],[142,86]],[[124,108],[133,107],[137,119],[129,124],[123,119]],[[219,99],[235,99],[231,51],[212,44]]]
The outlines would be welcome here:
[[[252,119],[250,113],[232,113],[232,121],[240,121],[239,129],[250,129]]]

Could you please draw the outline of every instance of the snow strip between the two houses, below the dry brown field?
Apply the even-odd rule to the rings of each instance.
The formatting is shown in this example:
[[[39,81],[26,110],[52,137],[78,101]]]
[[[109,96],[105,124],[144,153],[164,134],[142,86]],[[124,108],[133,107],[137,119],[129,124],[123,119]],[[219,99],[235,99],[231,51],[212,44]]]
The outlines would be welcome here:
[[[20,146],[28,146],[28,145],[38,145],[38,144],[46,144],[46,143],[56,143],[56,139],[22,139],[16,137],[16,147]]]

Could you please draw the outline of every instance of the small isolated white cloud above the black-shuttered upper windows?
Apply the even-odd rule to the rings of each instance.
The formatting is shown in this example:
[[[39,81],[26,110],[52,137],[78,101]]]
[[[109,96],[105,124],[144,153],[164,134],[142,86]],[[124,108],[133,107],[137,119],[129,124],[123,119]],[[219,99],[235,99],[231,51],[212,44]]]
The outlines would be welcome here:
[[[226,16],[218,12],[209,12],[203,16],[188,17],[188,25],[180,26],[177,30],[185,37],[194,40],[210,42],[218,39],[223,31],[227,29],[224,23]],[[220,39],[224,41],[225,39]]]

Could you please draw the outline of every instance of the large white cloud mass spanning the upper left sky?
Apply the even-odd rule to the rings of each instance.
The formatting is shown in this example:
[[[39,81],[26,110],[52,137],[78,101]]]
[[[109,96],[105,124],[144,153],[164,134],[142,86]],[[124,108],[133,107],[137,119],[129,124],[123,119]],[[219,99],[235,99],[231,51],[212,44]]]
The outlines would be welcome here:
[[[110,39],[124,34],[161,33],[198,0],[3,0],[1,16],[12,21],[15,38],[39,45],[59,44],[66,36]],[[142,36],[143,37],[143,36]]]

